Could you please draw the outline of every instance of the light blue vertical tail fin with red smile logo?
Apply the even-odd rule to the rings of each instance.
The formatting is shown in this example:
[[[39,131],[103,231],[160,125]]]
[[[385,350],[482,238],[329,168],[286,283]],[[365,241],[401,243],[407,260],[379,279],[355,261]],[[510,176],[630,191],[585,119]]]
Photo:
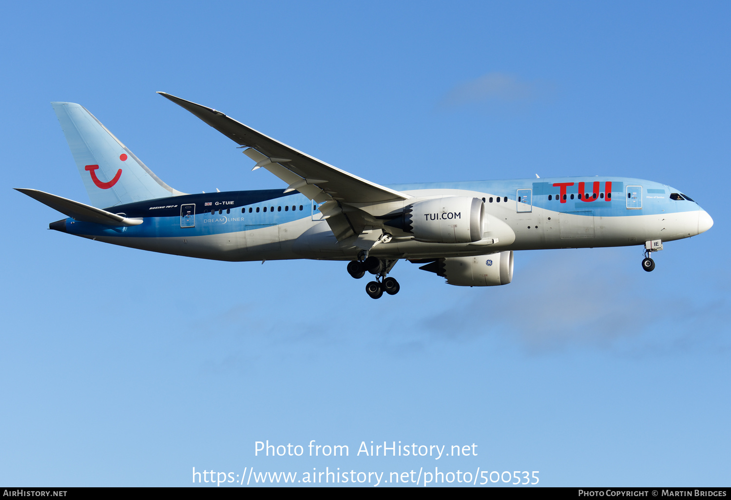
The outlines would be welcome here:
[[[74,155],[91,205],[99,208],[181,193],[160,180],[86,107],[51,102]]]

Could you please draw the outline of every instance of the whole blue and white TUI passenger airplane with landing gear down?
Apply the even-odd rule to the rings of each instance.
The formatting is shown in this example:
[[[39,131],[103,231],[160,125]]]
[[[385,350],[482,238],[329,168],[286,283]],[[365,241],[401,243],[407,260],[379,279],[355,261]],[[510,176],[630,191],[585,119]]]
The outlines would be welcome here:
[[[186,194],[168,186],[85,107],[53,102],[91,205],[18,189],[67,217],[49,229],[165,254],[231,262],[347,262],[374,276],[374,299],[398,293],[398,260],[447,284],[512,281],[518,250],[643,246],[642,268],[667,241],[700,235],[713,219],[663,183],[572,177],[382,186],[333,167],[220,111],[158,92],[229,137],[286,184]],[[218,191],[218,190],[216,190]]]

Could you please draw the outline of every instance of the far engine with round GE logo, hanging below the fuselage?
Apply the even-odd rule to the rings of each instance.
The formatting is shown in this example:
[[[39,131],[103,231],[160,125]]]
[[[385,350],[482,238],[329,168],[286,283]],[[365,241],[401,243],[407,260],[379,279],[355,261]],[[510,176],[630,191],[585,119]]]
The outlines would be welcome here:
[[[512,281],[512,250],[477,257],[447,257],[423,265],[458,287],[495,287]]]

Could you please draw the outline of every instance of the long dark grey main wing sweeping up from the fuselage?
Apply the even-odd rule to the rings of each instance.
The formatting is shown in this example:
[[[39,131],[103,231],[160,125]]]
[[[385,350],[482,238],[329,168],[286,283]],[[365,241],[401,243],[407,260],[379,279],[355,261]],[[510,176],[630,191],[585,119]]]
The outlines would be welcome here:
[[[317,202],[375,203],[410,198],[408,194],[379,186],[304,154],[220,111],[164,92],[158,94],[189,110],[235,143],[248,146],[244,154],[257,162],[254,168],[264,167],[281,178],[288,184],[288,191],[297,189]]]

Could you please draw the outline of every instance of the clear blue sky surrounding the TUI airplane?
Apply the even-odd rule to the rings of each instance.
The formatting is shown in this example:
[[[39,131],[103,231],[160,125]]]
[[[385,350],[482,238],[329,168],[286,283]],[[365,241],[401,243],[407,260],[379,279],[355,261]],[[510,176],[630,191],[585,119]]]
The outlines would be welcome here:
[[[252,466],[729,484],[727,2],[27,2],[4,19],[1,484]],[[646,178],[715,224],[652,273],[637,247],[518,252],[512,284],[488,289],[399,262],[401,292],[377,301],[343,263],[46,230],[60,215],[13,187],[88,200],[51,101],[87,107],[183,192],[282,186],[155,91],[378,183]],[[350,456],[255,457],[266,439]],[[355,456],[371,440],[479,447]]]

